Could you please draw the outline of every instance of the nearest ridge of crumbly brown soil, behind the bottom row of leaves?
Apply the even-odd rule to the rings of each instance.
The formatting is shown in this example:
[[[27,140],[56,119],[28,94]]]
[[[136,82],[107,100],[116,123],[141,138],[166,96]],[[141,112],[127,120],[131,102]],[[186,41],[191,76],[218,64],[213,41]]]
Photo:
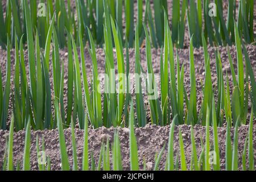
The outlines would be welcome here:
[[[205,127],[196,125],[193,127],[195,142],[197,148],[197,155],[200,155],[201,152],[201,139],[205,138]],[[129,170],[129,129],[127,128],[118,128],[119,131],[119,139],[120,139],[120,147],[122,151],[122,163],[123,169]],[[183,135],[184,140],[184,149],[187,159],[188,169],[190,167],[190,159],[191,159],[191,126],[181,125],[175,127],[174,133],[174,154],[179,158],[179,130]],[[110,129],[106,129],[105,127],[100,127],[98,129],[89,128],[89,152],[93,152],[94,160],[96,161],[96,165],[98,163],[98,156],[100,154],[101,142],[106,141],[106,138],[110,139],[110,146],[113,144],[113,136],[115,129],[111,127]],[[166,156],[167,156],[167,144],[168,144],[168,135],[170,131],[170,126],[160,127],[155,125],[146,125],[143,128],[136,128],[135,135],[137,137],[138,144],[138,155],[139,155],[139,167],[143,169],[143,159],[146,163],[146,168],[148,170],[152,170],[155,164],[155,154],[159,153],[159,151],[166,143],[166,147],[164,149],[164,153],[162,159],[160,161],[159,169],[163,170],[166,164]],[[241,126],[238,130],[238,166],[241,169],[241,156],[243,147],[245,144],[245,138],[247,135],[248,126]],[[231,130],[231,137],[233,140],[234,129]],[[0,169],[3,165],[3,155],[5,151],[6,138],[9,135],[9,131],[0,130]],[[45,142],[45,151],[46,155],[51,159],[51,170],[60,170],[60,151],[59,151],[59,134],[57,130],[43,130],[43,131],[31,131],[31,169],[38,169],[38,160],[36,157],[36,136],[38,135],[40,140],[40,145],[42,145],[42,138],[44,138]],[[67,153],[69,157],[70,167],[72,168],[72,140],[71,140],[71,129],[64,130]],[[77,142],[77,157],[79,163],[79,169],[81,169],[82,165],[82,150],[84,145],[84,131],[75,129],[76,142]],[[220,148],[220,163],[221,169],[225,169],[225,137],[226,137],[226,129],[224,127],[218,128],[218,143]],[[24,150],[24,138],[25,131],[19,131],[18,133],[14,133],[14,166],[17,165],[18,160],[22,162],[23,159],[23,150]],[[213,144],[213,135],[212,129],[210,128],[210,142]],[[254,122],[253,127],[253,143],[254,143],[254,160],[256,159],[256,125]],[[111,148],[111,147],[110,147]],[[112,158],[112,152],[110,152],[110,158]],[[91,163],[91,159],[89,159],[89,163]]]

